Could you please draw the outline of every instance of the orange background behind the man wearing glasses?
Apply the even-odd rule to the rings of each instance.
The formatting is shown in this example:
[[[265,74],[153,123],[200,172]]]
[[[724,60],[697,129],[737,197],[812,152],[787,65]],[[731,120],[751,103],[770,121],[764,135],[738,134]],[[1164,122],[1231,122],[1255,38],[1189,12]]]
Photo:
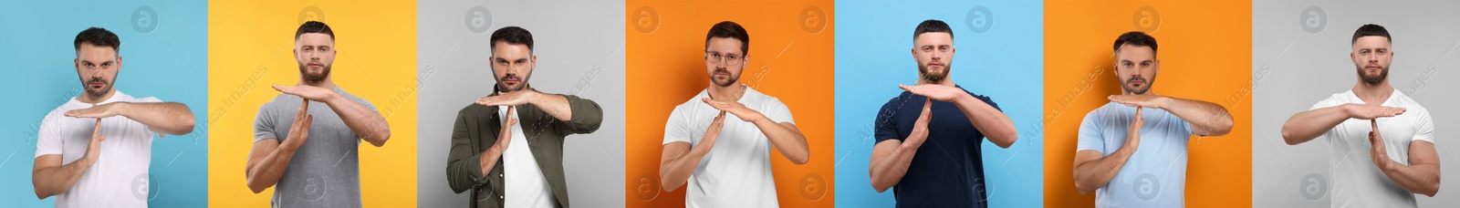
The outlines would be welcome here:
[[[641,7],[650,7],[657,15],[635,13]],[[710,86],[704,60],[705,32],[720,21],[734,21],[750,34],[750,60],[740,73],[740,82],[785,103],[810,148],[810,161],[802,166],[791,164],[778,151],[771,151],[771,170],[775,174],[780,205],[828,208],[834,205],[834,25],[831,18],[803,16],[802,12],[807,7],[818,7],[825,16],[834,16],[829,0],[628,1],[625,7],[626,94],[628,114],[631,114],[625,146],[628,207],[685,205],[688,185],[675,192],[664,192],[658,186],[664,122],[669,120],[675,105]],[[644,31],[635,25],[654,22],[657,28],[647,26],[653,29]],[[802,23],[825,28],[803,29]]]

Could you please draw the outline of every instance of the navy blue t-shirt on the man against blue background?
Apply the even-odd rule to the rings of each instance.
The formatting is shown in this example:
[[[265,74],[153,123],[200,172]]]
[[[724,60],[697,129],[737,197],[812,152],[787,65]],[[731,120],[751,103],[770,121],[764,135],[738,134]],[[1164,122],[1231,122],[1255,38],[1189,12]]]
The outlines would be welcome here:
[[[958,86],[962,89],[962,86]],[[968,92],[968,89],[964,89]],[[994,108],[993,100],[968,92]],[[882,104],[877,111],[877,144],[886,139],[904,139],[912,133],[912,125],[923,114],[923,95],[902,92]],[[953,103],[933,101],[931,120],[927,125],[927,142],[912,155],[912,164],[892,195],[898,207],[940,208],[986,208],[984,160],[980,152],[984,133],[974,129],[964,111]],[[1002,111],[1002,110],[1000,110]]]

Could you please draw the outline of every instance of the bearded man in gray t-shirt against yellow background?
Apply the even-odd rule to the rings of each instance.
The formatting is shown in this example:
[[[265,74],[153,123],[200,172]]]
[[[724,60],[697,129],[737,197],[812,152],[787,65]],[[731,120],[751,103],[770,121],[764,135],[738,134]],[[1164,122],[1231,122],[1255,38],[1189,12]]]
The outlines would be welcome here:
[[[390,126],[369,101],[330,81],[334,32],[305,22],[295,32],[299,83],[258,107],[245,167],[248,189],[277,186],[273,207],[362,207],[359,142],[381,146]],[[298,108],[295,108],[298,105]],[[315,117],[318,116],[318,117]],[[318,123],[315,123],[318,122]]]

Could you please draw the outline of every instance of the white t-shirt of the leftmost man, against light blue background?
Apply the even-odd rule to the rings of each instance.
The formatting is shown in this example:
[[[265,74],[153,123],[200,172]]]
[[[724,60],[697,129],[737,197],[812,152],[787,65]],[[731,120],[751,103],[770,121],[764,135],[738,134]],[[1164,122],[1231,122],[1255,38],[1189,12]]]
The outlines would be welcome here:
[[[158,98],[133,98],[117,91],[108,103],[162,103]],[[61,155],[61,164],[70,164],[86,155],[86,145],[96,126],[96,119],[66,117],[66,111],[89,108],[72,98],[45,114],[35,142],[35,157]],[[147,167],[152,163],[152,139],[156,132],[136,120],[112,116],[101,120],[101,155],[96,164],[82,173],[80,180],[64,193],[55,195],[55,207],[147,207]]]

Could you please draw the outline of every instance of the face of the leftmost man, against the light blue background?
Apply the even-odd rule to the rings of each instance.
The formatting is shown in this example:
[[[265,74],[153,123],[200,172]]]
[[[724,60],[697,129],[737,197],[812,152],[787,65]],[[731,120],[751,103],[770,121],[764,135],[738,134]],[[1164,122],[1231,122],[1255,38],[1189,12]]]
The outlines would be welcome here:
[[[117,83],[117,72],[121,70],[121,57],[117,56],[117,48],[82,42],[82,48],[76,50],[74,62],[76,75],[80,78],[82,86],[86,88],[86,94],[104,97],[112,91],[111,86]]]

